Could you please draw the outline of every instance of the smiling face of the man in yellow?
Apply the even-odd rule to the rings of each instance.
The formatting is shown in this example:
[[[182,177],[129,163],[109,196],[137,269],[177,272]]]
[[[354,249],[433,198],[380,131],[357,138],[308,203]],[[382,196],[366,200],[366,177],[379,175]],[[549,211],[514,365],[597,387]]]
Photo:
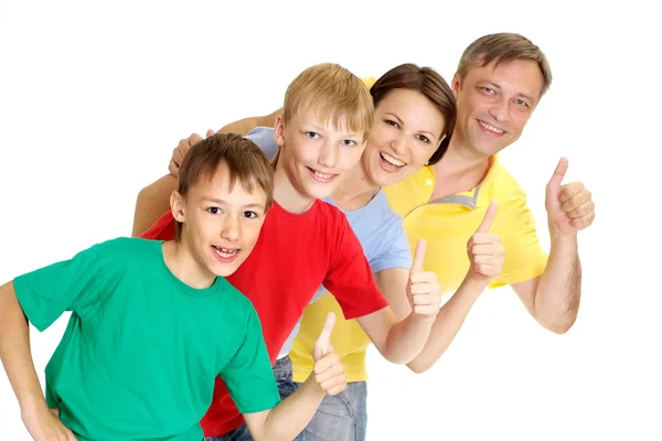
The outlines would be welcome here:
[[[479,155],[490,157],[515,142],[537,105],[543,74],[532,61],[473,66],[452,80],[458,122],[455,136]]]

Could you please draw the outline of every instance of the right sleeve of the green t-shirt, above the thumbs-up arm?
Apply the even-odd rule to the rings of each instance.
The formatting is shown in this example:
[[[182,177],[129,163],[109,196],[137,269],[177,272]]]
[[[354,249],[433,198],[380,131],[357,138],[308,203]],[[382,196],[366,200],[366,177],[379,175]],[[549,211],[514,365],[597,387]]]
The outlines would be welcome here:
[[[268,410],[280,401],[261,325],[253,308],[242,345],[221,372],[221,378],[242,413]]]

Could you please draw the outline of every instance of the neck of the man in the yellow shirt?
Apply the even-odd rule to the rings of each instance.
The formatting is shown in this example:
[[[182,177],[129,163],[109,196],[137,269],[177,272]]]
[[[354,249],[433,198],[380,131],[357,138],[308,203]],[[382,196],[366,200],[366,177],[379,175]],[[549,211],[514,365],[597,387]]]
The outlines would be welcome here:
[[[456,132],[457,133],[457,132]],[[444,159],[433,165],[437,179],[459,179],[474,187],[490,168],[490,157],[473,150],[460,133],[453,133]]]

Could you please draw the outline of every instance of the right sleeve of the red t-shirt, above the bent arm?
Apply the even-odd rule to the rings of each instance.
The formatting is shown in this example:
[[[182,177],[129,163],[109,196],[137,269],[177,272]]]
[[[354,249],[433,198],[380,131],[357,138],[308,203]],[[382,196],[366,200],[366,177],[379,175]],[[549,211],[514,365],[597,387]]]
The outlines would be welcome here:
[[[343,217],[339,243],[324,287],[335,297],[345,320],[372,314],[388,305],[372,275],[363,247]]]

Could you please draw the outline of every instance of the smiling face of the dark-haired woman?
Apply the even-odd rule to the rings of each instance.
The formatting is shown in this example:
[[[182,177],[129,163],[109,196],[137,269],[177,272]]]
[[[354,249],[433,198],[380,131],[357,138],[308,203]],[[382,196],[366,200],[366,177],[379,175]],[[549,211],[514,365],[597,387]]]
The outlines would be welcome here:
[[[380,186],[392,185],[424,166],[444,139],[441,111],[421,93],[396,88],[382,98],[362,164]]]

